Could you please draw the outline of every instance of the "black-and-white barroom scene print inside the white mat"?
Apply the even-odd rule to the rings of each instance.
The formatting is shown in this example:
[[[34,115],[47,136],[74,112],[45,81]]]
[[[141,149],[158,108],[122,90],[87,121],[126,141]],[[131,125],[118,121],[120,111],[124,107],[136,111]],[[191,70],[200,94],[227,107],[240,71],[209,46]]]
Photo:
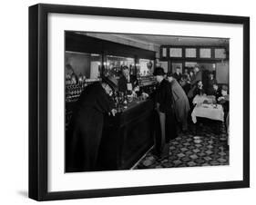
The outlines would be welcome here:
[[[229,38],[64,36],[65,172],[229,166]]]

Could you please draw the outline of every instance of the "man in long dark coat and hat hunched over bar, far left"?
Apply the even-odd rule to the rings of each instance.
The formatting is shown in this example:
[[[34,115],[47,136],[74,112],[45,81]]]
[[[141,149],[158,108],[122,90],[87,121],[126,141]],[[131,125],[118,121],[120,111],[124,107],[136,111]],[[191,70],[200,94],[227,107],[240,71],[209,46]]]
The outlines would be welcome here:
[[[66,136],[66,171],[95,171],[104,115],[115,115],[110,95],[117,87],[113,79],[88,85],[81,93]]]

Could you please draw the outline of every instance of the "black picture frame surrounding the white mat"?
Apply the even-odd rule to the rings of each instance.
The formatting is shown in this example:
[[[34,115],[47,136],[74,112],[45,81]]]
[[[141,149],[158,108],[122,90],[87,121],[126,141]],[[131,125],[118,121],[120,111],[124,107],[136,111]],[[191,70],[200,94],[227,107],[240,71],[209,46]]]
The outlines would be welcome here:
[[[100,15],[243,25],[243,180],[154,185],[101,190],[47,190],[47,16],[50,13]],[[76,5],[29,7],[29,198],[67,200],[192,190],[250,187],[250,18]]]

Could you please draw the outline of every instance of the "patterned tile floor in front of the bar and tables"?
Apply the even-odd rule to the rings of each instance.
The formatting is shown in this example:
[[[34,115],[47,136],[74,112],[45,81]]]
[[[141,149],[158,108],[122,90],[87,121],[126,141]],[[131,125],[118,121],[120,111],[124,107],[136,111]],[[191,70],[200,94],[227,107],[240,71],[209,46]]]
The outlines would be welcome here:
[[[135,169],[216,166],[229,164],[227,132],[220,123],[220,133],[215,132],[215,122],[189,125],[189,132],[179,132],[179,136],[169,142],[169,157],[159,159],[152,151],[139,161]]]

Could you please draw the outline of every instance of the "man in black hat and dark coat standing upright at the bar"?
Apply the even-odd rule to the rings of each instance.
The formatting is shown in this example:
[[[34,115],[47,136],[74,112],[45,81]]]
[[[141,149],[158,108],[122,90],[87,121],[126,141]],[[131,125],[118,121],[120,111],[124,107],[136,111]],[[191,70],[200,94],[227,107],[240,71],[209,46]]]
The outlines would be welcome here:
[[[165,79],[163,68],[157,67],[154,75],[159,83],[156,91],[156,110],[159,114],[160,133],[156,133],[156,151],[159,157],[165,158],[169,155],[169,140],[177,137],[171,85]]]

